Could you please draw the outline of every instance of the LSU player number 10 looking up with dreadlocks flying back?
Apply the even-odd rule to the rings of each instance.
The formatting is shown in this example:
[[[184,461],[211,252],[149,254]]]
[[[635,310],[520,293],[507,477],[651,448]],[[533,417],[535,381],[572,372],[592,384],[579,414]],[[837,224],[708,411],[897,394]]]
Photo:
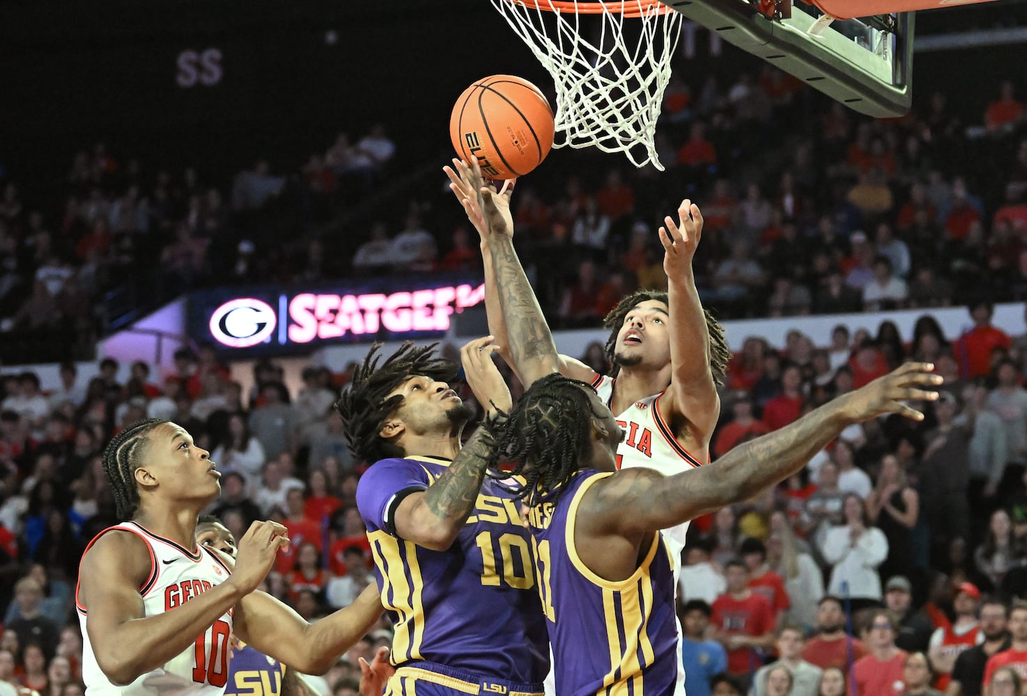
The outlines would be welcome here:
[[[491,339],[465,345],[461,361],[488,419],[498,421],[510,396]],[[485,477],[489,428],[461,448],[470,410],[450,388],[456,365],[433,346],[404,344],[384,361],[378,350],[338,410],[353,454],[374,462],[356,502],[395,624],[397,669],[385,693],[538,694],[548,645],[531,537],[512,496]]]

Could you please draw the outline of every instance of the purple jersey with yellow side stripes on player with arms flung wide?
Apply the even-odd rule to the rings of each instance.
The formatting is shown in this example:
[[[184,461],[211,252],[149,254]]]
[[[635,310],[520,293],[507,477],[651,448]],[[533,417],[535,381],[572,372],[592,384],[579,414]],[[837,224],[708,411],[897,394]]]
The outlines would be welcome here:
[[[538,584],[560,696],[670,696],[678,679],[674,573],[662,535],[653,532],[638,570],[604,580],[574,547],[585,492],[613,475],[578,471],[556,502],[532,508]]]

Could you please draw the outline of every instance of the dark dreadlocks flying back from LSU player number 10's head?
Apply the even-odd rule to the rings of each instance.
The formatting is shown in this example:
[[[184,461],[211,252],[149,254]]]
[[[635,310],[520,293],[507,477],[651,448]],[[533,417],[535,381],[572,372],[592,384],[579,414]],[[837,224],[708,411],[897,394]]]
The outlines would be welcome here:
[[[367,464],[380,459],[403,457],[403,448],[381,436],[382,426],[403,396],[389,393],[414,375],[424,375],[439,382],[453,382],[459,372],[456,364],[435,355],[435,346],[418,347],[407,341],[400,350],[379,364],[382,344],[376,343],[356,369],[352,380],[335,408],[346,429],[346,443],[353,456]]]

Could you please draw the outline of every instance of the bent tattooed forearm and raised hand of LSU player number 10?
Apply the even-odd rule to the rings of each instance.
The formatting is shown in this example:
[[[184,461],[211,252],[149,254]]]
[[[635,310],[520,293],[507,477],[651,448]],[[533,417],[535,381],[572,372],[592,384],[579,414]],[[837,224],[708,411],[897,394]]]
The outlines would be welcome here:
[[[500,412],[509,413],[512,399],[492,361],[498,347],[491,341],[488,336],[464,344],[460,362],[479,403],[489,418],[497,418]],[[396,535],[433,551],[445,551],[452,546],[474,509],[494,444],[489,429],[479,428],[438,480],[400,503],[395,509]]]

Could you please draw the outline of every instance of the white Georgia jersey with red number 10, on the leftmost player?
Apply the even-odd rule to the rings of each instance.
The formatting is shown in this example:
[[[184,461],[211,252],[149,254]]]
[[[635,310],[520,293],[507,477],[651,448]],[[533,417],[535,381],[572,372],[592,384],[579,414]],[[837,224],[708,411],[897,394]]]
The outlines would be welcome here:
[[[150,549],[150,575],[140,587],[146,616],[154,616],[180,607],[201,592],[221,584],[229,576],[229,570],[206,547],[197,544],[194,551],[153,534],[143,526],[122,523],[109,527],[93,538],[85,550],[97,543],[97,539],[112,530],[129,532],[141,538]],[[110,569],[117,573],[118,569]],[[87,629],[89,616],[78,601],[75,605],[82,626],[82,681],[85,682],[87,696],[178,696],[178,694],[199,694],[200,696],[221,696],[228,682],[228,660],[230,636],[232,634],[232,614],[229,610],[203,631],[194,645],[172,658],[163,666],[142,674],[131,684],[119,687],[111,684],[97,662]]]

